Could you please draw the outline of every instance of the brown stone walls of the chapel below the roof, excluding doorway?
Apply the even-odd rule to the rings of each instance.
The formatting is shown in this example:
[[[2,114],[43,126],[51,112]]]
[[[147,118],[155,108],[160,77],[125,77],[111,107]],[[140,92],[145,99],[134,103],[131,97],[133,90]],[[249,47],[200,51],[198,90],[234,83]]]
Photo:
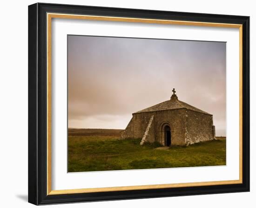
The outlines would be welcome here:
[[[171,145],[189,145],[215,139],[212,115],[187,109],[134,113],[127,128],[121,132],[121,137],[142,139],[152,115],[154,120],[146,138],[150,143],[165,145],[165,125],[171,128]]]

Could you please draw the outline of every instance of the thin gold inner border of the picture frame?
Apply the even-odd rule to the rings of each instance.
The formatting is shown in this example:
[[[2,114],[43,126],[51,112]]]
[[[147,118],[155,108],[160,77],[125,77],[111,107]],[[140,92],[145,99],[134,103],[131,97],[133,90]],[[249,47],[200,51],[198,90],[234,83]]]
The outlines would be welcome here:
[[[53,18],[239,28],[239,180],[214,181],[214,182],[187,182],[187,183],[121,186],[121,187],[107,187],[107,188],[52,190],[51,189],[52,187],[52,179],[51,179],[51,176],[52,176],[52,171],[51,171],[51,166],[52,166],[52,161],[51,161],[51,81],[52,81],[51,80],[51,71],[52,71],[51,29],[52,29],[52,24],[51,23]],[[47,195],[78,194],[78,193],[93,193],[93,192],[123,191],[123,190],[142,190],[142,189],[163,189],[163,188],[243,183],[243,175],[242,175],[243,174],[243,123],[242,121],[243,121],[243,25],[214,23],[214,22],[157,20],[157,19],[123,18],[123,17],[111,17],[111,16],[108,17],[108,16],[93,16],[93,15],[76,15],[76,14],[65,14],[65,13],[47,13]]]

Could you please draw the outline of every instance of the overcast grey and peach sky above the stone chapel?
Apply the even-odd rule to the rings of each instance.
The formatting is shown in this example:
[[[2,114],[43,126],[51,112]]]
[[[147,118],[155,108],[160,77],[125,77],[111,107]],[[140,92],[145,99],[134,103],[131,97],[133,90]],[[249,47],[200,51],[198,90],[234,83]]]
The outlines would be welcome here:
[[[67,44],[69,128],[125,129],[175,88],[226,135],[226,43],[68,35]]]

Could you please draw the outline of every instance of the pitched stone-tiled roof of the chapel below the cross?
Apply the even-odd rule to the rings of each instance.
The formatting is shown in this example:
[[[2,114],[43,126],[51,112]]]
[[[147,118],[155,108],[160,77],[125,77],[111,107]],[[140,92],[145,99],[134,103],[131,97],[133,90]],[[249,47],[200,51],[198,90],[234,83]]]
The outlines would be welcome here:
[[[152,111],[159,111],[159,110],[174,110],[174,109],[188,109],[188,110],[193,110],[196,112],[211,115],[203,110],[200,110],[198,108],[195,108],[192,105],[189,105],[187,103],[184,103],[178,100],[178,97],[175,94],[172,95],[170,100],[164,101],[160,104],[153,105],[151,107],[137,111],[135,113],[144,113],[144,112],[152,112]]]

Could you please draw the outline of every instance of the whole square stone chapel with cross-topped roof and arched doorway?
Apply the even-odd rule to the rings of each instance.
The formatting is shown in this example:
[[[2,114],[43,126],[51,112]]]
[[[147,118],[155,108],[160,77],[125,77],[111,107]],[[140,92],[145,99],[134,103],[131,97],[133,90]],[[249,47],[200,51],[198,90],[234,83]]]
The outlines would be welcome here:
[[[132,114],[122,138],[141,138],[166,145],[189,145],[215,139],[213,116],[178,100],[173,89],[170,100]]]

